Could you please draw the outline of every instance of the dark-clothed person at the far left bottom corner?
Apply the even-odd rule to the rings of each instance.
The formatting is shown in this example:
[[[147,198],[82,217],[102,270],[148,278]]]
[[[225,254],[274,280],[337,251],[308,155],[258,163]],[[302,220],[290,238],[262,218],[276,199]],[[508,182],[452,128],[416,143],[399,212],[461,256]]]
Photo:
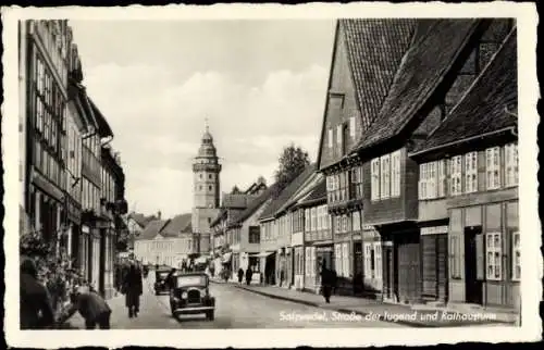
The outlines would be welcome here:
[[[54,324],[51,300],[38,282],[38,270],[30,259],[21,264],[21,329],[45,329]]]

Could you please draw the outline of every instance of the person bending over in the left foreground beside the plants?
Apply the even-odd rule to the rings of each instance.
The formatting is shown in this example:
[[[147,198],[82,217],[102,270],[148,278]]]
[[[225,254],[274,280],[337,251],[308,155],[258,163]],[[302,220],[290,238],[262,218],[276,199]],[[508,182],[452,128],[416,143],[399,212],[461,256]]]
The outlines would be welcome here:
[[[85,329],[110,329],[111,309],[108,302],[88,286],[76,287],[69,310],[58,324],[66,322],[75,312],[85,320]]]

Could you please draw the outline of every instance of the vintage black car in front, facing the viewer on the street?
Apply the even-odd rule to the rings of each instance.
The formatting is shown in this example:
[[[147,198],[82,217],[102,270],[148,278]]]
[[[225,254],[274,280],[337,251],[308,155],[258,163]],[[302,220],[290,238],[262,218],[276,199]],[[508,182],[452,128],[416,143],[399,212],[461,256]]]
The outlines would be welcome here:
[[[194,272],[175,275],[170,290],[170,309],[172,315],[206,314],[213,320],[215,298],[210,295],[210,280],[207,274]]]

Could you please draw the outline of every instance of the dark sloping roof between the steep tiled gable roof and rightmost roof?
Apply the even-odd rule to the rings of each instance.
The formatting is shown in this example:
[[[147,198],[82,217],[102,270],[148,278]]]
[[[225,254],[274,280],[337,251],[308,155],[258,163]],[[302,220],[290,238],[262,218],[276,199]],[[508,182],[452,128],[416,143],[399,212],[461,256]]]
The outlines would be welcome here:
[[[360,150],[398,135],[442,83],[473,34],[479,20],[419,20],[390,92]]]

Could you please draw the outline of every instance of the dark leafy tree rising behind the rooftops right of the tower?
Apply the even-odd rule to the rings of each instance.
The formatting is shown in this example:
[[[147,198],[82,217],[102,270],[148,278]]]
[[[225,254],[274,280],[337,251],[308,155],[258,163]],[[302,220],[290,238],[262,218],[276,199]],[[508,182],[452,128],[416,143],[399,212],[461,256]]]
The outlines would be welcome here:
[[[281,191],[310,165],[310,158],[307,151],[292,142],[283,148],[279,162],[279,168],[274,176],[277,190]]]

